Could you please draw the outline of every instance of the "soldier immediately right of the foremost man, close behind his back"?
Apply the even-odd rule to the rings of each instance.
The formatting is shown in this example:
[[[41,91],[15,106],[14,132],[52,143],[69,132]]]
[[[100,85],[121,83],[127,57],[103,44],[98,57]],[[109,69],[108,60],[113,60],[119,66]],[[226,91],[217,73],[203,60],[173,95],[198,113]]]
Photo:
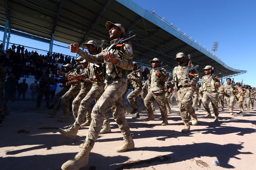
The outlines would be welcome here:
[[[137,70],[137,63],[132,62],[132,72]],[[128,80],[131,82],[131,92],[128,94],[127,99],[132,106],[132,112],[130,114],[135,114],[132,119],[140,118],[140,109],[139,109],[139,94],[142,89],[142,73],[141,71],[137,71],[134,73],[130,73],[127,76]]]

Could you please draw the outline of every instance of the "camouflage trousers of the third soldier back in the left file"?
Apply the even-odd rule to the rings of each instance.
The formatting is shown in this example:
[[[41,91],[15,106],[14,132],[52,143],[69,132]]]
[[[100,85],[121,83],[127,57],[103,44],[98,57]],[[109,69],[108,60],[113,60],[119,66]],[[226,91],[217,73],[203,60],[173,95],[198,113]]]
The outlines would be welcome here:
[[[73,111],[73,116],[75,119],[77,118],[80,103],[84,99],[84,97],[88,94],[89,91],[90,91],[90,89],[81,89],[79,91],[79,93],[77,94],[76,98],[73,100],[72,111]],[[91,107],[89,107],[89,109],[87,110],[87,115],[88,114],[91,114]]]

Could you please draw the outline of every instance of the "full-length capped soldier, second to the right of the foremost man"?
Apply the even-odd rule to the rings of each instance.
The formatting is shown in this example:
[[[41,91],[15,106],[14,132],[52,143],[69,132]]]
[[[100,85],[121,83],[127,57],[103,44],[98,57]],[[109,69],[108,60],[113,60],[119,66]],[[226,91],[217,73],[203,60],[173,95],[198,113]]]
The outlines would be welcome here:
[[[150,70],[150,76],[148,78],[148,84],[150,84],[149,92],[144,99],[144,104],[148,113],[148,118],[145,121],[155,120],[153,115],[153,110],[151,107],[151,103],[156,100],[161,112],[161,116],[163,118],[163,122],[161,125],[165,126],[168,124],[167,121],[167,108],[165,103],[165,82],[168,80],[168,76],[166,75],[166,71],[164,68],[158,69],[159,59],[154,58],[150,60],[152,63],[153,69]]]

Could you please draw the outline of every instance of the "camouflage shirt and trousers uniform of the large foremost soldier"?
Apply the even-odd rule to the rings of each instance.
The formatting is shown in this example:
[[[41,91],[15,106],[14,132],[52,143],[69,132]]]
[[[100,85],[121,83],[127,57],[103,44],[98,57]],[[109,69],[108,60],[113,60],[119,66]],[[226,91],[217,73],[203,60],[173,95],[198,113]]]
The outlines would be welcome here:
[[[111,45],[113,45],[116,41],[117,39],[112,40]],[[90,55],[85,51],[79,50],[78,54],[90,63],[102,63],[104,62],[104,58],[103,58],[104,51],[98,55]],[[106,114],[110,108],[112,109],[112,112],[113,112],[113,118],[115,119],[117,125],[119,126],[119,129],[121,130],[123,136],[127,137],[131,135],[130,128],[124,116],[122,95],[127,89],[127,77],[125,75],[125,73],[127,74],[127,71],[125,70],[131,70],[132,68],[132,56],[133,56],[132,45],[130,42],[124,43],[124,45],[117,51],[118,51],[117,63],[113,64],[113,63],[106,62],[107,70],[105,74],[105,83],[106,83],[105,91],[103,92],[102,96],[100,97],[100,99],[97,101],[97,103],[94,105],[92,109],[92,114],[91,114],[92,121],[85,139],[85,142],[88,143],[88,145],[91,147],[93,147],[100,133],[101,127],[103,125],[104,114]],[[114,50],[111,49],[110,52],[114,52]],[[127,58],[130,58],[130,59],[127,59]],[[113,71],[115,70],[116,72],[113,73]],[[99,82],[99,84],[102,84],[102,83]],[[99,87],[102,88],[104,87],[104,85]],[[98,92],[100,92],[100,89],[98,89]],[[87,95],[88,97],[89,97],[89,93]],[[96,94],[96,96],[99,94],[100,93]],[[81,105],[82,105],[82,102],[80,104],[80,107]],[[80,110],[80,107],[79,107],[79,110]],[[76,119],[76,122],[77,120],[79,120],[79,112],[78,112],[78,117]]]

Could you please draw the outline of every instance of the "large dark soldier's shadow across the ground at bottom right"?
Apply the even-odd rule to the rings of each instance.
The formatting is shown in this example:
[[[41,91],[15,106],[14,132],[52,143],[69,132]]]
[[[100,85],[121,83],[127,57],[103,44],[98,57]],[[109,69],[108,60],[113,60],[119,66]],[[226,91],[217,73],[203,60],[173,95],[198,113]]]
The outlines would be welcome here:
[[[155,151],[163,152],[161,156],[155,158],[140,160],[139,162],[126,163],[117,168],[121,170],[124,168],[145,168],[160,164],[170,164],[172,162],[181,162],[183,160],[193,159],[201,157],[217,157],[220,166],[223,168],[235,168],[233,165],[228,164],[230,158],[236,158],[239,154],[252,154],[252,152],[240,152],[243,148],[241,144],[214,144],[214,143],[199,143],[199,144],[186,144],[186,145],[173,145],[162,147],[140,147],[134,148],[133,151]],[[164,155],[164,152],[173,152],[171,154]],[[161,157],[161,159],[159,158]],[[214,160],[214,159],[213,159]],[[210,166],[212,162],[206,162]],[[195,162],[196,164],[196,162]],[[208,167],[208,166],[207,166]]]

